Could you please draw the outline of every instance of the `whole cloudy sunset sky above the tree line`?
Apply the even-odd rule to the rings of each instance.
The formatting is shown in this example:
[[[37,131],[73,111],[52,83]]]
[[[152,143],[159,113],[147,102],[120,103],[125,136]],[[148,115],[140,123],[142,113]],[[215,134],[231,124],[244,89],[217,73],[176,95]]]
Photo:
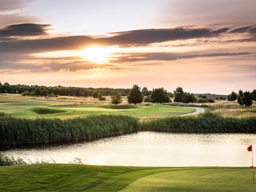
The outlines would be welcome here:
[[[252,91],[255,0],[0,0],[0,82]]]

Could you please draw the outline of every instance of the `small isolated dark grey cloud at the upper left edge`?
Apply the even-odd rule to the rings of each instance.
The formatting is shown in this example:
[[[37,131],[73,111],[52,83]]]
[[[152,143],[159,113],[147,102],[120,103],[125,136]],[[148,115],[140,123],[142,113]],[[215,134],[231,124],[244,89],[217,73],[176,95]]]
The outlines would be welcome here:
[[[23,23],[6,26],[0,29],[0,37],[26,37],[46,34],[46,28],[50,25]]]

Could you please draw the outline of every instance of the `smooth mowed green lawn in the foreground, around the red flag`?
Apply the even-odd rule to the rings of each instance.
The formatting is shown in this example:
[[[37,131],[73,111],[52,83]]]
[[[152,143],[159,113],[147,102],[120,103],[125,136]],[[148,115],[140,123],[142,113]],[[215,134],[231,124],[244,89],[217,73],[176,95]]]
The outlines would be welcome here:
[[[0,191],[256,191],[252,170],[75,164],[1,166]]]

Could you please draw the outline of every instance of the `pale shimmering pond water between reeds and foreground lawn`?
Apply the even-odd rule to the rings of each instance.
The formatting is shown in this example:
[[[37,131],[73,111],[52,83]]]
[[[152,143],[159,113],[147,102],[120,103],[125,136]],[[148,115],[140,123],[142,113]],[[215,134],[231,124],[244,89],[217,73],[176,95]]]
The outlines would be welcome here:
[[[118,166],[251,166],[256,134],[170,134],[140,132],[72,145],[3,151],[26,161]],[[256,149],[256,148],[255,148]],[[255,152],[256,153],[256,152]],[[256,158],[255,158],[256,162]]]

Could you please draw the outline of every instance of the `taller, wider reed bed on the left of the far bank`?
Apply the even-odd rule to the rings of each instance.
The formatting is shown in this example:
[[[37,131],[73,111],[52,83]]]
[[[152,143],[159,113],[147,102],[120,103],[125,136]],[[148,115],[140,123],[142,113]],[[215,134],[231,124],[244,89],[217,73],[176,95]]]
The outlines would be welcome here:
[[[0,147],[51,142],[89,141],[138,131],[138,119],[122,115],[88,118],[0,118]]]

